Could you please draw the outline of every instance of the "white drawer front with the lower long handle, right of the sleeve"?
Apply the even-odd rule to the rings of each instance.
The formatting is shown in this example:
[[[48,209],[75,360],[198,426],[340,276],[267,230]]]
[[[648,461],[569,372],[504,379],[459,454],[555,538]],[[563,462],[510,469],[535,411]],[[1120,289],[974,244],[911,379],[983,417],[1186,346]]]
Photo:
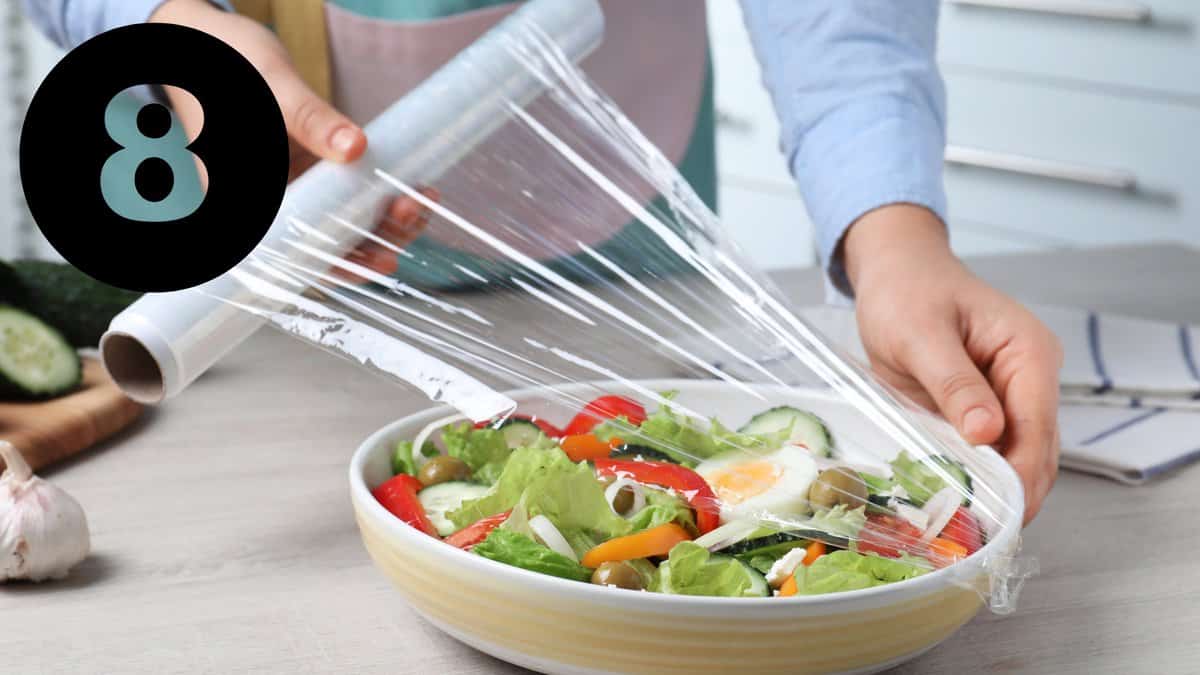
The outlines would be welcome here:
[[[948,74],[947,86],[949,156],[1008,167],[948,162],[952,222],[1080,244],[1200,243],[1200,108],[980,76]]]

